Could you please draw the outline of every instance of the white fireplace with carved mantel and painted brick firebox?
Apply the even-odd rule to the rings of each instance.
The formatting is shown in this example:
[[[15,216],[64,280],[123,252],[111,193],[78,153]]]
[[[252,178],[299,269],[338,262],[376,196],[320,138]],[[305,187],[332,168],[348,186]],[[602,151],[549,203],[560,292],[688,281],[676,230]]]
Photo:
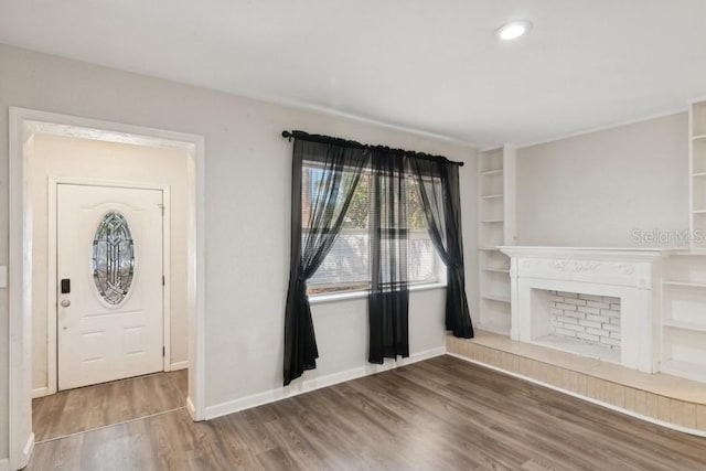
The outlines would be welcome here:
[[[660,249],[501,249],[512,260],[513,340],[657,371]]]

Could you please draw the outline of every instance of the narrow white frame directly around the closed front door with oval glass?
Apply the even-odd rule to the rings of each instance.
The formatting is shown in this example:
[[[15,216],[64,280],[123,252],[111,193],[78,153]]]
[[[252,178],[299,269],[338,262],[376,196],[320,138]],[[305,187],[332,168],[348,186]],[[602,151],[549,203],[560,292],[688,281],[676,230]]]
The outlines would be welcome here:
[[[56,318],[58,313],[56,287],[58,286],[57,275],[57,218],[58,211],[58,185],[77,185],[77,186],[105,186],[121,188],[132,190],[157,190],[162,192],[162,275],[164,276],[164,285],[162,286],[162,343],[164,346],[164,355],[162,357],[162,366],[165,372],[171,371],[171,197],[170,186],[167,184],[135,183],[120,182],[101,179],[76,179],[68,176],[50,176],[49,178],[49,228],[47,237],[47,296],[46,296],[46,374],[47,374],[47,392],[46,395],[55,394],[58,390],[58,331],[56,330]],[[33,393],[33,397],[38,397]]]

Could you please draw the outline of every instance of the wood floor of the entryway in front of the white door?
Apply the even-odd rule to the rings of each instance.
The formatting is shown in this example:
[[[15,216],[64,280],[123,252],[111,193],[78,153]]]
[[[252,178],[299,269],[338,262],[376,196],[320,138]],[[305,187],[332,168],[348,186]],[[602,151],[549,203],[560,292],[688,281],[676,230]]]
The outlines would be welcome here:
[[[186,405],[188,371],[156,373],[32,399],[36,442],[120,424]]]

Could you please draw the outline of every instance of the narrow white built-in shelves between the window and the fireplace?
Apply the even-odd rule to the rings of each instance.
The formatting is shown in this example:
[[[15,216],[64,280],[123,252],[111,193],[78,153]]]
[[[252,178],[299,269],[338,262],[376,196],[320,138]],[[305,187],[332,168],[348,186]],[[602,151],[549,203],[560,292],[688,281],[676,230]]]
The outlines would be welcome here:
[[[515,235],[515,149],[484,150],[479,173],[479,292],[477,329],[510,335],[510,258],[498,249]]]

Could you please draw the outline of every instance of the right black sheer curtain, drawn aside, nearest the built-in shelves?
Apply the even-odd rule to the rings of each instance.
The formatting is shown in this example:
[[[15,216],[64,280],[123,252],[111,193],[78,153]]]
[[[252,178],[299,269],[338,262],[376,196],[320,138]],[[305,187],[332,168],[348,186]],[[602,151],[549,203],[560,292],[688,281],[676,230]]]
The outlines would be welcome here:
[[[429,234],[447,267],[446,329],[471,339],[473,325],[466,297],[461,195],[458,165],[431,159],[408,160],[417,180]]]

